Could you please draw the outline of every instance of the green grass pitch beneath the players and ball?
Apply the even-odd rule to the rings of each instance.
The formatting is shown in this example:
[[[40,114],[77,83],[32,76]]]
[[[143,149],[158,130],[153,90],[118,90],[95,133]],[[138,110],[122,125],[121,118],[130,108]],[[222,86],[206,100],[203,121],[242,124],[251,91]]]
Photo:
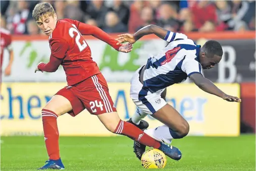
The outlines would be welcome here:
[[[1,170],[36,170],[47,160],[43,137],[1,137]],[[172,143],[180,161],[168,158],[165,170],[255,170],[255,135],[185,137]],[[60,137],[65,170],[145,170],[133,142],[118,137]]]

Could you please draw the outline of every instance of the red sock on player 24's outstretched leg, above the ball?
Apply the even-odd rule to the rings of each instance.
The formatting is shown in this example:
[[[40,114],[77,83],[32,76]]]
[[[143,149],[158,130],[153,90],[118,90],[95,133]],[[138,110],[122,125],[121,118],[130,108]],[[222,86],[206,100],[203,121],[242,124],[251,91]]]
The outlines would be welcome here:
[[[129,138],[138,141],[148,147],[159,148],[161,145],[157,140],[144,133],[135,125],[122,120],[119,121],[115,133],[126,135]]]

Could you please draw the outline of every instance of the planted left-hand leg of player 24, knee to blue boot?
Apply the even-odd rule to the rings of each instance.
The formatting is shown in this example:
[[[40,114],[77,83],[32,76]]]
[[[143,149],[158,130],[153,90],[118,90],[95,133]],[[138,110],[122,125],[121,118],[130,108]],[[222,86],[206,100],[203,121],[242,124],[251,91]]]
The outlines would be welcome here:
[[[54,95],[42,109],[44,141],[49,156],[47,163],[38,169],[62,169],[64,165],[60,158],[59,130],[57,118],[72,110],[70,101],[61,95]]]

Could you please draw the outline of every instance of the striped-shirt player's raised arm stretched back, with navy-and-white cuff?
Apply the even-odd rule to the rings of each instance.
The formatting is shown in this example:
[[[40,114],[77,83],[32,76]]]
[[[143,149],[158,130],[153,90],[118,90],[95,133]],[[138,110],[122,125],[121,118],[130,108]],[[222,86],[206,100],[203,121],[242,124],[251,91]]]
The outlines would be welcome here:
[[[172,35],[174,35],[175,33],[168,31],[162,27],[159,27],[157,25],[147,25],[143,28],[141,28],[140,30],[138,30],[136,33],[134,34],[121,34],[118,35],[118,38],[116,40],[118,40],[117,44],[123,43],[123,42],[129,42],[131,44],[135,43],[138,39],[140,39],[141,37],[143,37],[144,35],[148,35],[148,34],[155,34],[158,37],[167,40],[168,38],[170,39],[169,41],[171,41]],[[171,34],[171,36],[170,36]],[[175,36],[175,35],[174,35]]]

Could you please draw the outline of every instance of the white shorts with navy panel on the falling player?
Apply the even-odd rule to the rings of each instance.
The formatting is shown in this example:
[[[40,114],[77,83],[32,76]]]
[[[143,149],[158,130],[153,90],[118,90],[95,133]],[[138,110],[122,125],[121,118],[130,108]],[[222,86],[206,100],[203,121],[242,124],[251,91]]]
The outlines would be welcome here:
[[[135,105],[138,106],[142,111],[152,115],[167,104],[167,102],[161,97],[161,94],[165,89],[161,89],[154,93],[147,91],[147,88],[143,87],[139,81],[139,71],[142,69],[142,67],[140,67],[132,76],[130,97]]]

